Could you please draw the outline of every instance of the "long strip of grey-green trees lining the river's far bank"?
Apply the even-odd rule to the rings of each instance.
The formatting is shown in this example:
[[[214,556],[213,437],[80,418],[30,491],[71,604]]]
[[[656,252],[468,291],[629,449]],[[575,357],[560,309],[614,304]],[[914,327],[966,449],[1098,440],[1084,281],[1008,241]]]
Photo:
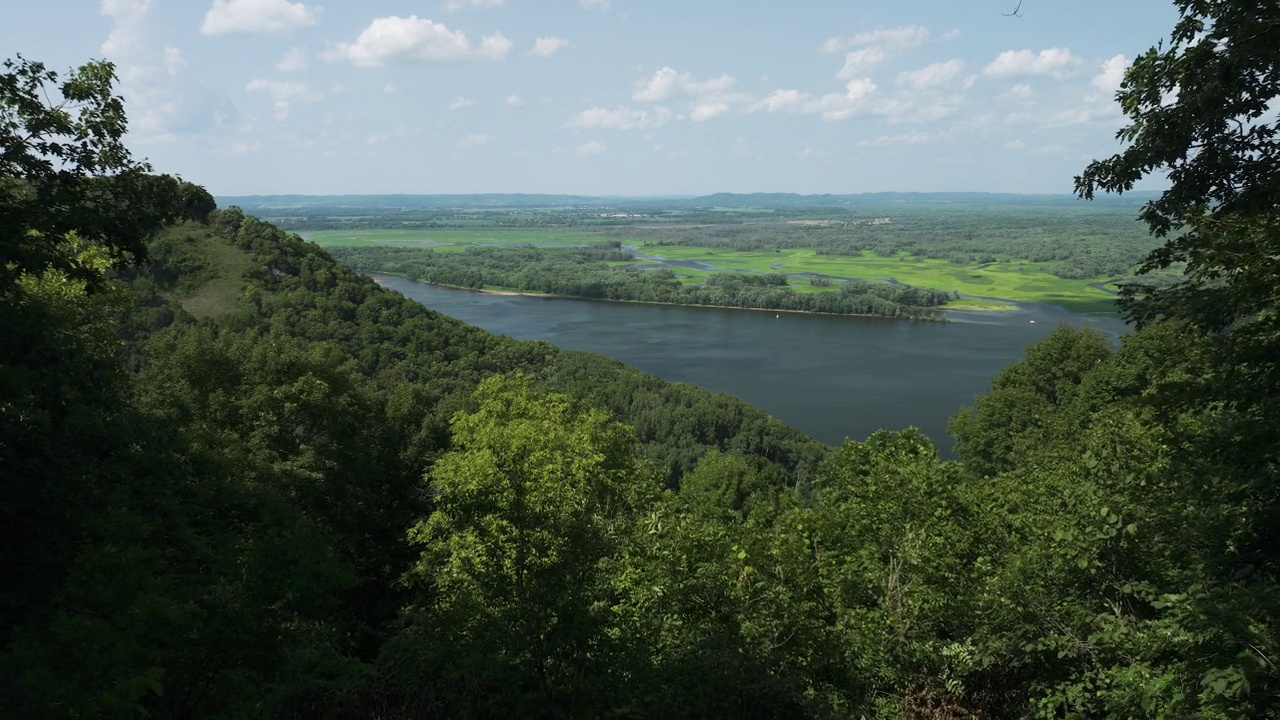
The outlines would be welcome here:
[[[498,287],[590,300],[753,307],[837,315],[929,319],[951,295],[906,284],[841,283],[836,292],[800,293],[778,273],[712,273],[685,284],[667,269],[609,266],[634,256],[621,243],[581,249],[472,247],[436,252],[419,247],[333,247],[329,254],[357,270],[480,290]]]

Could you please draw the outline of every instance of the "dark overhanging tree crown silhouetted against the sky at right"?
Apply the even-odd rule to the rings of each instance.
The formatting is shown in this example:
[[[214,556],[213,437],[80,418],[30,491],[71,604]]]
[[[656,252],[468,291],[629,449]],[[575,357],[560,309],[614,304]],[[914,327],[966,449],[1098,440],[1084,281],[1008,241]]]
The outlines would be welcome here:
[[[1129,146],[1075,178],[1076,192],[1126,192],[1152,174],[1169,188],[1140,211],[1167,243],[1142,272],[1185,263],[1167,290],[1132,286],[1123,300],[1146,324],[1187,318],[1212,329],[1262,322],[1275,333],[1280,286],[1280,3],[1176,0],[1169,46],[1152,47],[1116,94]]]

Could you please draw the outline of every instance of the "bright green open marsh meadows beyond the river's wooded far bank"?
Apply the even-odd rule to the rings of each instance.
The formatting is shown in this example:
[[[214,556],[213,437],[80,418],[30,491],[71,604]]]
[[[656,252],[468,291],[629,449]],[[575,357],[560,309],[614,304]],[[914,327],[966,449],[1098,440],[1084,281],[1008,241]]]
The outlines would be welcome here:
[[[320,246],[401,246],[431,247],[439,252],[457,252],[467,247],[495,245],[534,245],[568,247],[604,242],[611,238],[591,232],[485,228],[485,229],[339,229],[305,231],[301,233]],[[1089,287],[1110,278],[1062,279],[1047,272],[1048,263],[998,258],[997,263],[959,265],[936,258],[913,258],[900,254],[884,258],[873,252],[860,256],[819,255],[809,249],[733,250],[727,247],[695,247],[655,245],[644,238],[621,240],[634,245],[641,255],[664,260],[696,261],[714,270],[671,268],[685,283],[701,283],[712,272],[748,270],[758,273],[814,273],[836,278],[893,279],[905,284],[959,292],[965,296],[948,304],[964,310],[1006,310],[1000,300],[1050,302],[1073,313],[1110,313],[1115,310],[1114,295]],[[626,263],[611,263],[626,265]],[[805,279],[792,279],[797,292],[826,292],[832,288],[813,287]]]

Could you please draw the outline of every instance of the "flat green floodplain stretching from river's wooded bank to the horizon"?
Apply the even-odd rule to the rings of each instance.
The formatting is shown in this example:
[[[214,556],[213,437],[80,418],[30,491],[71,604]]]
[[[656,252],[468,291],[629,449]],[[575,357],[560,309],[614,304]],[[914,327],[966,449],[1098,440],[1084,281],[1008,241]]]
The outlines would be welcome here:
[[[817,310],[835,307],[854,281],[901,283],[938,291],[923,305],[863,302],[856,311],[929,316],[945,300],[947,309],[1000,310],[1012,302],[1050,302],[1075,313],[1114,313],[1117,290],[1134,282],[1138,263],[1158,242],[1134,222],[1135,200],[1084,204],[1056,196],[982,193],[877,193],[872,196],[717,195],[701,199],[581,199],[572,196],[393,196],[353,199],[239,197],[255,213],[335,249],[362,269],[398,273],[419,268],[415,277],[460,287],[516,290],[607,297],[607,287],[628,284],[669,290],[614,291],[613,299],[662,299],[705,302],[676,290],[703,286],[712,274],[737,272],[781,274],[787,297],[745,306]],[[530,205],[541,202],[541,205]],[[422,208],[416,205],[430,205]],[[622,254],[595,258],[593,283],[576,278],[548,282],[547,268],[579,265],[579,246],[604,245]],[[374,247],[417,249],[417,252],[371,251]],[[529,274],[479,278],[479,268],[506,264],[513,255],[498,247],[530,246]],[[344,250],[365,249],[364,251]],[[426,252],[430,251],[430,252]],[[472,277],[443,272],[461,266],[449,254],[468,254]],[[623,254],[630,252],[630,258]],[[412,259],[411,259],[412,258]],[[358,260],[356,260],[358,259]],[[598,263],[618,272],[645,269],[659,278],[626,278],[602,273]],[[426,273],[422,268],[434,268]],[[585,268],[573,266],[571,273]],[[445,279],[449,278],[449,279]],[[458,282],[458,281],[462,282]],[[1147,278],[1146,282],[1152,282]],[[774,286],[774,291],[783,286]],[[867,295],[865,284],[852,284]],[[831,293],[832,300],[801,299]],[[842,293],[842,295],[841,295]],[[923,297],[923,296],[922,296]],[[741,305],[739,300],[726,301]],[[840,310],[818,310],[840,311]]]

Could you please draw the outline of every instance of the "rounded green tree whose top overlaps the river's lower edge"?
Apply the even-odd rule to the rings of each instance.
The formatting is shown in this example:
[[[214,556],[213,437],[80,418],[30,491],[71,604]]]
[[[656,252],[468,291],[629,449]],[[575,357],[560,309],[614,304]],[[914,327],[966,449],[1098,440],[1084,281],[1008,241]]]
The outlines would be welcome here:
[[[804,525],[863,714],[966,710],[966,593],[978,552],[957,475],[908,429],[847,441],[814,480]]]

